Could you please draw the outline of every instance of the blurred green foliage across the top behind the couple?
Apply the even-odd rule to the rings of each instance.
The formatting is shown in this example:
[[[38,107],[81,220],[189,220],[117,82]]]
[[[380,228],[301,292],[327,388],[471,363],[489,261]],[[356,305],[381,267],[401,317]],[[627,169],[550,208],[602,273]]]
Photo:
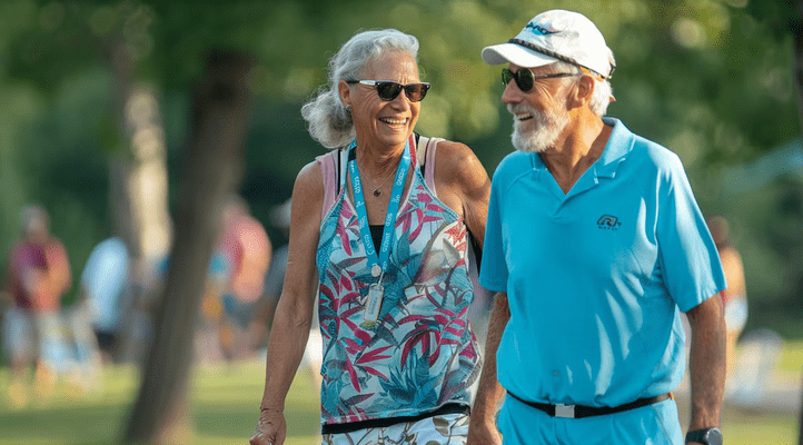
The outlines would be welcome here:
[[[801,287],[803,266],[794,260],[800,250],[790,249],[803,245],[794,226],[800,215],[779,216],[777,206],[761,191],[744,199],[726,196],[717,181],[731,166],[800,136],[791,4],[3,2],[0,249],[10,246],[17,215],[28,201],[43,202],[53,214],[53,231],[65,240],[76,275],[91,246],[110,235],[107,162],[112,154],[125,155],[113,108],[120,76],[116,51],[126,51],[133,61],[131,76],[161,97],[171,186],[180,179],[175,172],[180,171],[178,154],[188,131],[189,92],[205,55],[212,48],[254,55],[255,103],[242,194],[267,225],[270,206],[289,197],[296,172],[324,152],[306,134],[299,108],[326,82],[328,59],[355,32],[393,27],[419,39],[422,75],[433,89],[418,131],[469,144],[493,174],[510,151],[510,118],[499,103],[499,67],[483,63],[479,52],[514,37],[536,13],[566,8],[594,20],[616,55],[612,81],[617,101],[609,113],[682,157],[703,210],[724,212],[743,227],[740,247],[756,258],[747,264],[751,295],[782,300]],[[766,209],[751,214],[745,202]],[[275,244],[284,241],[278,230],[269,230]]]

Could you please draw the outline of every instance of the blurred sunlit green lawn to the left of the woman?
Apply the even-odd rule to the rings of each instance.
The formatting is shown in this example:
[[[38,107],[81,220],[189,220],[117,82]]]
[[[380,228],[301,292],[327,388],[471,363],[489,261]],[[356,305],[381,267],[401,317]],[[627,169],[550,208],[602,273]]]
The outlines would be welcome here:
[[[62,383],[53,395],[26,408],[8,404],[8,368],[0,369],[0,445],[108,445],[120,443],[137,387],[130,367],[108,368],[103,388],[75,395]],[[247,444],[259,415],[264,363],[199,369],[192,382],[199,445]],[[319,406],[310,378],[299,373],[287,399],[288,445],[320,444]]]

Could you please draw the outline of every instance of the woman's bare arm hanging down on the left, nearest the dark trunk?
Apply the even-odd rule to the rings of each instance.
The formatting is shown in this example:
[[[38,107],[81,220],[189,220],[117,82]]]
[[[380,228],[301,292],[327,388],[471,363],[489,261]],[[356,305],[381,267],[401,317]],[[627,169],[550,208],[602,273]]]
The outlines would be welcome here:
[[[285,442],[285,397],[301,362],[313,322],[323,199],[320,168],[313,162],[301,169],[293,189],[287,273],[270,329],[265,392],[252,445]]]

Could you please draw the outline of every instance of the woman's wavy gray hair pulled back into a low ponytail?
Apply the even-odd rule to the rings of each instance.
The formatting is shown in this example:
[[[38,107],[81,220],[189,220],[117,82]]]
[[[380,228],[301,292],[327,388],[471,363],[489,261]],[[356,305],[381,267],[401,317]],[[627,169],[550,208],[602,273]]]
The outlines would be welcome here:
[[[351,111],[340,101],[337,85],[340,80],[359,80],[366,63],[385,51],[408,52],[418,60],[418,39],[395,29],[361,31],[329,60],[328,82],[301,107],[313,139],[326,148],[343,147],[354,140]]]

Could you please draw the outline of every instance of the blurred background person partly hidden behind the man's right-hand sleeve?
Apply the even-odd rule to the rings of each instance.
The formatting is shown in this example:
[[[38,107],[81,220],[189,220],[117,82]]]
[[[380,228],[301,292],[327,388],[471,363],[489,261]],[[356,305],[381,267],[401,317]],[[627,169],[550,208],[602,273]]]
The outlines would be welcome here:
[[[727,219],[720,215],[707,219],[708,230],[720,253],[720,260],[725,273],[727,288],[720,293],[725,307],[726,363],[727,375],[732,376],[735,363],[735,349],[738,337],[747,323],[747,287],[744,279],[744,264],[742,255],[733,245],[731,227]],[[733,379],[728,379],[733,382]]]

